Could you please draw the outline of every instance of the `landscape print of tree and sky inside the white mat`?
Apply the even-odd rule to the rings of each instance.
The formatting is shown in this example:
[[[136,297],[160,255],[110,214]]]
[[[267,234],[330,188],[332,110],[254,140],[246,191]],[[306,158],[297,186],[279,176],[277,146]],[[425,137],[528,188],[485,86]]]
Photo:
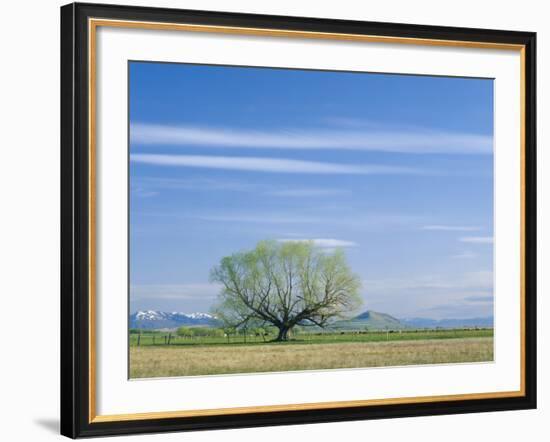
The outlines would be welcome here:
[[[129,377],[493,361],[493,80],[128,62]]]

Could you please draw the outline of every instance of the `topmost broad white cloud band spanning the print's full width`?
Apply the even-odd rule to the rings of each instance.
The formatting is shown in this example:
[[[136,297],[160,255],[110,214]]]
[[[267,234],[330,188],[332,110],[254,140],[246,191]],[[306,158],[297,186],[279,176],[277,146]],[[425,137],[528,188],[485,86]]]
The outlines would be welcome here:
[[[134,123],[132,143],[250,149],[346,149],[413,154],[490,154],[488,135],[425,129],[278,129],[261,131],[208,126]]]

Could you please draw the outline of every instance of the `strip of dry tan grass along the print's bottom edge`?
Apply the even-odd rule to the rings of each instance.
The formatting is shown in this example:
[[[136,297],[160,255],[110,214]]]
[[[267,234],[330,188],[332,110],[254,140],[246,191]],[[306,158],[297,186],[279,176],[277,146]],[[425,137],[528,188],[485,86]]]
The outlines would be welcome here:
[[[493,338],[294,345],[130,347],[130,377],[152,378],[493,360]]]

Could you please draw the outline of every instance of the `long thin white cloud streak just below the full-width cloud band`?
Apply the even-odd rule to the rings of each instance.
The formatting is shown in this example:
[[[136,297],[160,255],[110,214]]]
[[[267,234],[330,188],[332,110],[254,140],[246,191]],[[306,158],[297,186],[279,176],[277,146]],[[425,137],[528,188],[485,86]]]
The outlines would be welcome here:
[[[156,166],[198,167],[270,173],[352,175],[425,173],[420,169],[399,166],[322,163],[317,161],[262,157],[223,157],[206,155],[160,155],[136,153],[130,155],[130,160],[135,163],[151,164]]]

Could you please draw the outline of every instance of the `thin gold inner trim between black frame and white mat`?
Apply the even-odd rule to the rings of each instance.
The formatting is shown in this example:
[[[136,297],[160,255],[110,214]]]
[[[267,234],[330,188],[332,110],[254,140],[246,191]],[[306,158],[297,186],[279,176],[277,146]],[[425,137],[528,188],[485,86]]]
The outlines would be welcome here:
[[[467,393],[439,396],[417,396],[388,399],[368,399],[353,401],[317,402],[285,405],[262,405],[254,407],[216,408],[202,410],[160,411],[129,414],[96,414],[96,33],[99,26],[116,28],[134,28],[163,31],[208,32],[217,34],[255,35],[266,37],[287,37],[357,41],[387,44],[412,44],[419,46],[462,47],[476,49],[495,49],[519,51],[520,53],[520,389],[489,393]],[[422,39],[409,37],[390,37],[377,35],[359,35],[329,32],[292,31],[283,29],[244,28],[234,26],[211,26],[181,23],[159,23],[131,20],[88,19],[88,111],[89,111],[89,423],[138,421],[146,419],[169,419],[180,417],[238,415],[247,413],[273,413],[281,411],[323,410],[329,408],[365,407],[375,405],[419,404],[427,402],[482,400],[513,398],[525,396],[525,45],[459,40]]]

